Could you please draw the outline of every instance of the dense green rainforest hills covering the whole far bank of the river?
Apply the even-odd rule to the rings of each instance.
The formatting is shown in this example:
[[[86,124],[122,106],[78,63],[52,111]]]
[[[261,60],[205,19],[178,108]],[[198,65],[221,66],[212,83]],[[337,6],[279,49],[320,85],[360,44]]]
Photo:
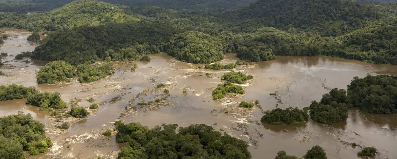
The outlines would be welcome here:
[[[237,53],[256,62],[322,55],[397,64],[397,2],[104,1],[76,0],[31,14],[3,12],[0,25],[53,31],[31,57],[76,66],[105,59],[108,50],[123,59],[164,52],[189,63]]]

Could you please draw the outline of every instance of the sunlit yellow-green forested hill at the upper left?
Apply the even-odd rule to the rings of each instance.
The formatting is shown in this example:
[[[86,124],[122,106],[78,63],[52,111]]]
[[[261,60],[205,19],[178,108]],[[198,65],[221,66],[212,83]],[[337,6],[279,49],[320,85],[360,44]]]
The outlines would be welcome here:
[[[30,31],[54,31],[82,25],[137,21],[118,6],[92,0],[76,0],[45,13],[17,14],[0,13],[1,27],[28,29]]]

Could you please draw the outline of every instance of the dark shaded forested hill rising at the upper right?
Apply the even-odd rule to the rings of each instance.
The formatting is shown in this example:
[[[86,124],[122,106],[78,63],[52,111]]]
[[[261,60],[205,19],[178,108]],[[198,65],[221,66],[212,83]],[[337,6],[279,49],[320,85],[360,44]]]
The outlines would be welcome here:
[[[361,4],[347,0],[259,0],[222,17],[251,23],[243,27],[268,26],[320,32],[324,36],[349,33],[396,16],[395,2]]]

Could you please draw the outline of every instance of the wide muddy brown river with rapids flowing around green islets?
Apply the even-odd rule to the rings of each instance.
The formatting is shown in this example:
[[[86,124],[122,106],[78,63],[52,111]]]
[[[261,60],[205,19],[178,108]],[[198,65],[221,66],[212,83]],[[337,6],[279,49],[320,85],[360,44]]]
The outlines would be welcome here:
[[[246,111],[235,108],[236,103],[242,100],[259,100],[264,111],[276,106],[303,108],[312,100],[320,100],[322,94],[331,88],[346,88],[355,76],[365,77],[367,73],[397,75],[397,66],[332,57],[278,56],[272,61],[251,63],[234,69],[254,76],[251,82],[242,85],[246,94],[235,99],[213,101],[211,89],[221,83],[220,77],[227,70],[197,68],[203,65],[183,63],[165,54],[150,55],[151,61],[138,62],[137,71],[133,72],[129,71],[132,63],[116,64],[115,75],[90,84],[80,84],[75,78],[69,83],[37,84],[35,73],[45,62],[25,63],[13,59],[21,51],[34,50],[35,45],[26,41],[31,33],[23,30],[7,30],[6,33],[11,38],[4,40],[0,52],[7,52],[9,56],[3,58],[6,65],[0,71],[6,75],[0,76],[0,84],[23,84],[35,86],[40,91],[60,92],[67,103],[81,99],[79,105],[83,107],[91,104],[85,101],[91,97],[94,103],[103,102],[98,110],[90,110],[92,113],[88,118],[70,122],[71,128],[65,132],[54,128],[56,121],[47,112],[25,105],[25,100],[0,102],[1,117],[22,111],[46,123],[47,135],[53,140],[54,146],[47,153],[29,158],[86,159],[99,155],[116,158],[118,150],[126,145],[116,143],[114,135],[105,137],[101,134],[105,128],[112,126],[121,113],[125,115],[120,120],[139,122],[149,127],[162,123],[212,125],[216,130],[223,129],[249,142],[253,159],[272,159],[279,150],[301,157],[314,145],[322,146],[329,159],[355,159],[360,149],[344,144],[352,142],[378,148],[380,155],[376,158],[397,158],[397,117],[394,115],[372,115],[351,109],[346,122],[327,126],[310,120],[304,125],[283,126],[258,122],[262,117],[258,107]],[[236,60],[235,54],[227,54],[221,63]],[[205,72],[210,72],[211,77],[205,76]],[[160,83],[169,88],[167,102],[172,104],[157,109],[125,111],[125,107],[131,105],[129,101],[137,95],[140,98],[135,103],[161,98],[162,91],[140,95]],[[183,88],[187,88],[187,95],[183,95]],[[274,92],[277,92],[277,98],[269,95]],[[121,100],[107,102],[118,95],[122,95]],[[225,113],[225,110],[229,112]]]

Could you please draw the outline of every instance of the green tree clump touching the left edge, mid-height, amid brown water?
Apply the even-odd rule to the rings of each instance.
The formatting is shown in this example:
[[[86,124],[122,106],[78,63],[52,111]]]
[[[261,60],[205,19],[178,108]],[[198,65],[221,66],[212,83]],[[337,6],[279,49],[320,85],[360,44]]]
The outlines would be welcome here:
[[[8,86],[0,86],[0,101],[5,100],[17,100],[27,98],[31,94],[35,94],[38,91],[35,87],[24,87],[22,85],[11,84]]]

